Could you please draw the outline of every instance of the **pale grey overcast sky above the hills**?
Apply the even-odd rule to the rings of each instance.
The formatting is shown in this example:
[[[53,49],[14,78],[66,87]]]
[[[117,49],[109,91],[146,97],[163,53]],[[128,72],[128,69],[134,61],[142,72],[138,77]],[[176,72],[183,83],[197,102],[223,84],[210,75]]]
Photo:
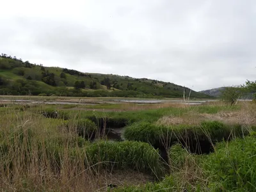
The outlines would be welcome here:
[[[255,80],[255,0],[3,0],[0,52],[200,91]]]

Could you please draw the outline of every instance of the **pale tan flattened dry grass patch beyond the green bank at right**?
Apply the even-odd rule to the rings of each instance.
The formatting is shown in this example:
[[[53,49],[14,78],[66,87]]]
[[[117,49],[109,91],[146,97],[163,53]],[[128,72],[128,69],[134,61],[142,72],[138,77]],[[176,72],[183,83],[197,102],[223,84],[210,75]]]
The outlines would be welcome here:
[[[209,110],[198,110],[205,107]],[[217,120],[225,124],[241,124],[246,126],[256,125],[256,103],[239,101],[236,106],[228,107],[224,102],[209,102],[202,106],[187,106],[188,111],[180,116],[165,115],[159,118],[157,125],[198,125],[203,120]],[[219,108],[211,111],[211,108]],[[215,110],[215,109],[214,109]]]

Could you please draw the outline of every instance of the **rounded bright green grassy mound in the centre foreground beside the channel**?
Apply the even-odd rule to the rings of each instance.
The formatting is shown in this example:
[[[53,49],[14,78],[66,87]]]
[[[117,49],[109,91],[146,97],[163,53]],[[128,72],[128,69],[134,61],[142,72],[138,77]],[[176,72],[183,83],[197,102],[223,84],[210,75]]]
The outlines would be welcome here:
[[[71,152],[75,158],[84,155],[86,166],[97,168],[132,168],[141,172],[162,173],[162,165],[157,150],[147,143],[138,141],[95,141],[91,145]]]

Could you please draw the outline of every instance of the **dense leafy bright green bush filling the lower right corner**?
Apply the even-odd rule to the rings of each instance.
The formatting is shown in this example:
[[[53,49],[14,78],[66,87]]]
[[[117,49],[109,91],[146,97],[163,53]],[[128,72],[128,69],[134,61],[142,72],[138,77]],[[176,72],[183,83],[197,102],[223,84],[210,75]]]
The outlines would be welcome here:
[[[256,191],[256,137],[218,143],[204,156],[211,191]]]

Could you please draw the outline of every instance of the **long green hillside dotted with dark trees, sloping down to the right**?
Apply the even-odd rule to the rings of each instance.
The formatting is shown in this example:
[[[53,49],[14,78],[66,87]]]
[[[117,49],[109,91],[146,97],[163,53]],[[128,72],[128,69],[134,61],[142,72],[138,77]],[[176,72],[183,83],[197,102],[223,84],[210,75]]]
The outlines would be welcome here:
[[[152,79],[112,74],[89,74],[60,67],[44,67],[2,54],[1,95],[61,95],[73,97],[183,97],[184,87]],[[188,97],[189,88],[185,88]],[[209,98],[191,91],[191,98]]]

